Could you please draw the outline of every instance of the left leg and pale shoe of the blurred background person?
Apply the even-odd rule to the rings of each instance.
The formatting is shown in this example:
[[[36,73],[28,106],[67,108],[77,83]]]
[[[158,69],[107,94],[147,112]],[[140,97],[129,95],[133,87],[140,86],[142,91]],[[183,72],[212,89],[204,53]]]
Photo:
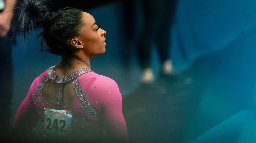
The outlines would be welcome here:
[[[142,0],[144,11],[144,27],[138,43],[138,55],[141,68],[143,70],[141,81],[154,81],[153,70],[151,68],[152,44],[156,41],[156,34],[161,26],[160,20],[163,15],[164,0]]]

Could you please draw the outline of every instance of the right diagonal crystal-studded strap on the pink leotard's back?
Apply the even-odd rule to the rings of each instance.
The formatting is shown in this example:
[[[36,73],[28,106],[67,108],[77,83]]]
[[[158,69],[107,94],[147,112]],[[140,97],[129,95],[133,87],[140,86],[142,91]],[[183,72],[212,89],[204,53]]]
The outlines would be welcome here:
[[[89,104],[87,98],[85,97],[85,95],[83,93],[83,90],[82,90],[78,80],[77,79],[73,80],[71,82],[71,84],[72,84],[72,86],[73,86],[73,88],[74,88],[74,90],[76,92],[77,97],[82,102],[83,107],[86,109],[86,111],[88,113],[90,113],[92,116],[100,118],[100,114],[95,109],[93,109],[91,107],[91,105]]]

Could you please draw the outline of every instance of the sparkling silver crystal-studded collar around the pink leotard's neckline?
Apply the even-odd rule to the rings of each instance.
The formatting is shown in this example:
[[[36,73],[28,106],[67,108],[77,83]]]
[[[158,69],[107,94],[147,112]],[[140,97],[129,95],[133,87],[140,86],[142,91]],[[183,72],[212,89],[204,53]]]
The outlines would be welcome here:
[[[55,69],[55,65],[48,69],[47,74],[49,75],[49,77],[52,81],[55,81],[57,83],[69,83],[69,82],[73,81],[75,78],[79,77],[80,75],[82,75],[86,72],[94,72],[91,69],[83,68],[83,69],[79,69],[67,76],[58,76],[54,69]]]

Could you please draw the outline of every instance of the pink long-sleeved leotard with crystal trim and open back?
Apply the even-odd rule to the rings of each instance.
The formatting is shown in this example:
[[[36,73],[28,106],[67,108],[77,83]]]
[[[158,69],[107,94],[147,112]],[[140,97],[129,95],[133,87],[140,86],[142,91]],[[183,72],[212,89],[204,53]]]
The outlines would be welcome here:
[[[76,97],[63,110],[72,112],[74,136],[112,135],[127,138],[127,127],[122,113],[122,97],[116,82],[89,69],[80,69],[68,76],[58,76],[50,67],[37,77],[21,103],[14,118],[13,128],[29,131],[43,119],[44,108],[54,109],[42,96],[41,90],[48,80],[72,83]]]

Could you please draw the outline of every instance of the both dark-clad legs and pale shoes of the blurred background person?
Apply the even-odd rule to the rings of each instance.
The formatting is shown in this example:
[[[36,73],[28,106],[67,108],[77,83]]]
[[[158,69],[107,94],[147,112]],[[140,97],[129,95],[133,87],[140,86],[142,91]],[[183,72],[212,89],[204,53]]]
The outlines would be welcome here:
[[[141,0],[144,26],[138,42],[138,56],[142,68],[142,83],[151,83],[155,76],[151,65],[152,49],[156,44],[161,74],[173,73],[170,54],[171,27],[177,0]]]

